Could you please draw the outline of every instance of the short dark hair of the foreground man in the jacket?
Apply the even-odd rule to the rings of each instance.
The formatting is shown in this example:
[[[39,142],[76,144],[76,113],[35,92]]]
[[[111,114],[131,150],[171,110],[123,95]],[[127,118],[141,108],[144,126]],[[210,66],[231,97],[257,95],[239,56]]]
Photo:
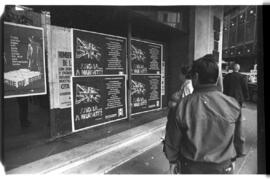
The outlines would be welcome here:
[[[213,84],[218,79],[218,65],[211,54],[196,60],[192,65],[192,74],[199,74],[200,84]]]

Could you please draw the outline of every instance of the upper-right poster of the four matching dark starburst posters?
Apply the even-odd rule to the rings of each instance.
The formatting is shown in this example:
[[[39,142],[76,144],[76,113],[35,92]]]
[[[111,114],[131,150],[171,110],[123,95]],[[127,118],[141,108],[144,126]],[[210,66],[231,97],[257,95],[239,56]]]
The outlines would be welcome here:
[[[131,40],[131,73],[160,74],[163,46],[141,40]]]

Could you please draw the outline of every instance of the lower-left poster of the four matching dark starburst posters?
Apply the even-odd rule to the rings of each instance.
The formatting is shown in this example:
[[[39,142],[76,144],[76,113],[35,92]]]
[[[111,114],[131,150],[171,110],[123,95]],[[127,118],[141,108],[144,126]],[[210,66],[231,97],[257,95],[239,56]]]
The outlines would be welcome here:
[[[127,118],[125,75],[72,77],[72,131]]]

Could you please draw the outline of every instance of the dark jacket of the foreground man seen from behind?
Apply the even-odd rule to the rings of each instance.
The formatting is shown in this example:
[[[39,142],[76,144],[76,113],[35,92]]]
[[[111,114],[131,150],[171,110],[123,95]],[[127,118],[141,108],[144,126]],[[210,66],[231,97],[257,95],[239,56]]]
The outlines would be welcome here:
[[[241,108],[215,85],[195,88],[183,98],[166,126],[164,152],[170,163],[181,158],[220,164],[244,154]]]

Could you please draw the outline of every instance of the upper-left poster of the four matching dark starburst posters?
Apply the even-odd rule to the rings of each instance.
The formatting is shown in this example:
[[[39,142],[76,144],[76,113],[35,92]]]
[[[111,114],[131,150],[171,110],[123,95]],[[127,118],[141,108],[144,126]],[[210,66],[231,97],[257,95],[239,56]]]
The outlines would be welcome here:
[[[72,29],[74,76],[126,74],[126,38]]]

